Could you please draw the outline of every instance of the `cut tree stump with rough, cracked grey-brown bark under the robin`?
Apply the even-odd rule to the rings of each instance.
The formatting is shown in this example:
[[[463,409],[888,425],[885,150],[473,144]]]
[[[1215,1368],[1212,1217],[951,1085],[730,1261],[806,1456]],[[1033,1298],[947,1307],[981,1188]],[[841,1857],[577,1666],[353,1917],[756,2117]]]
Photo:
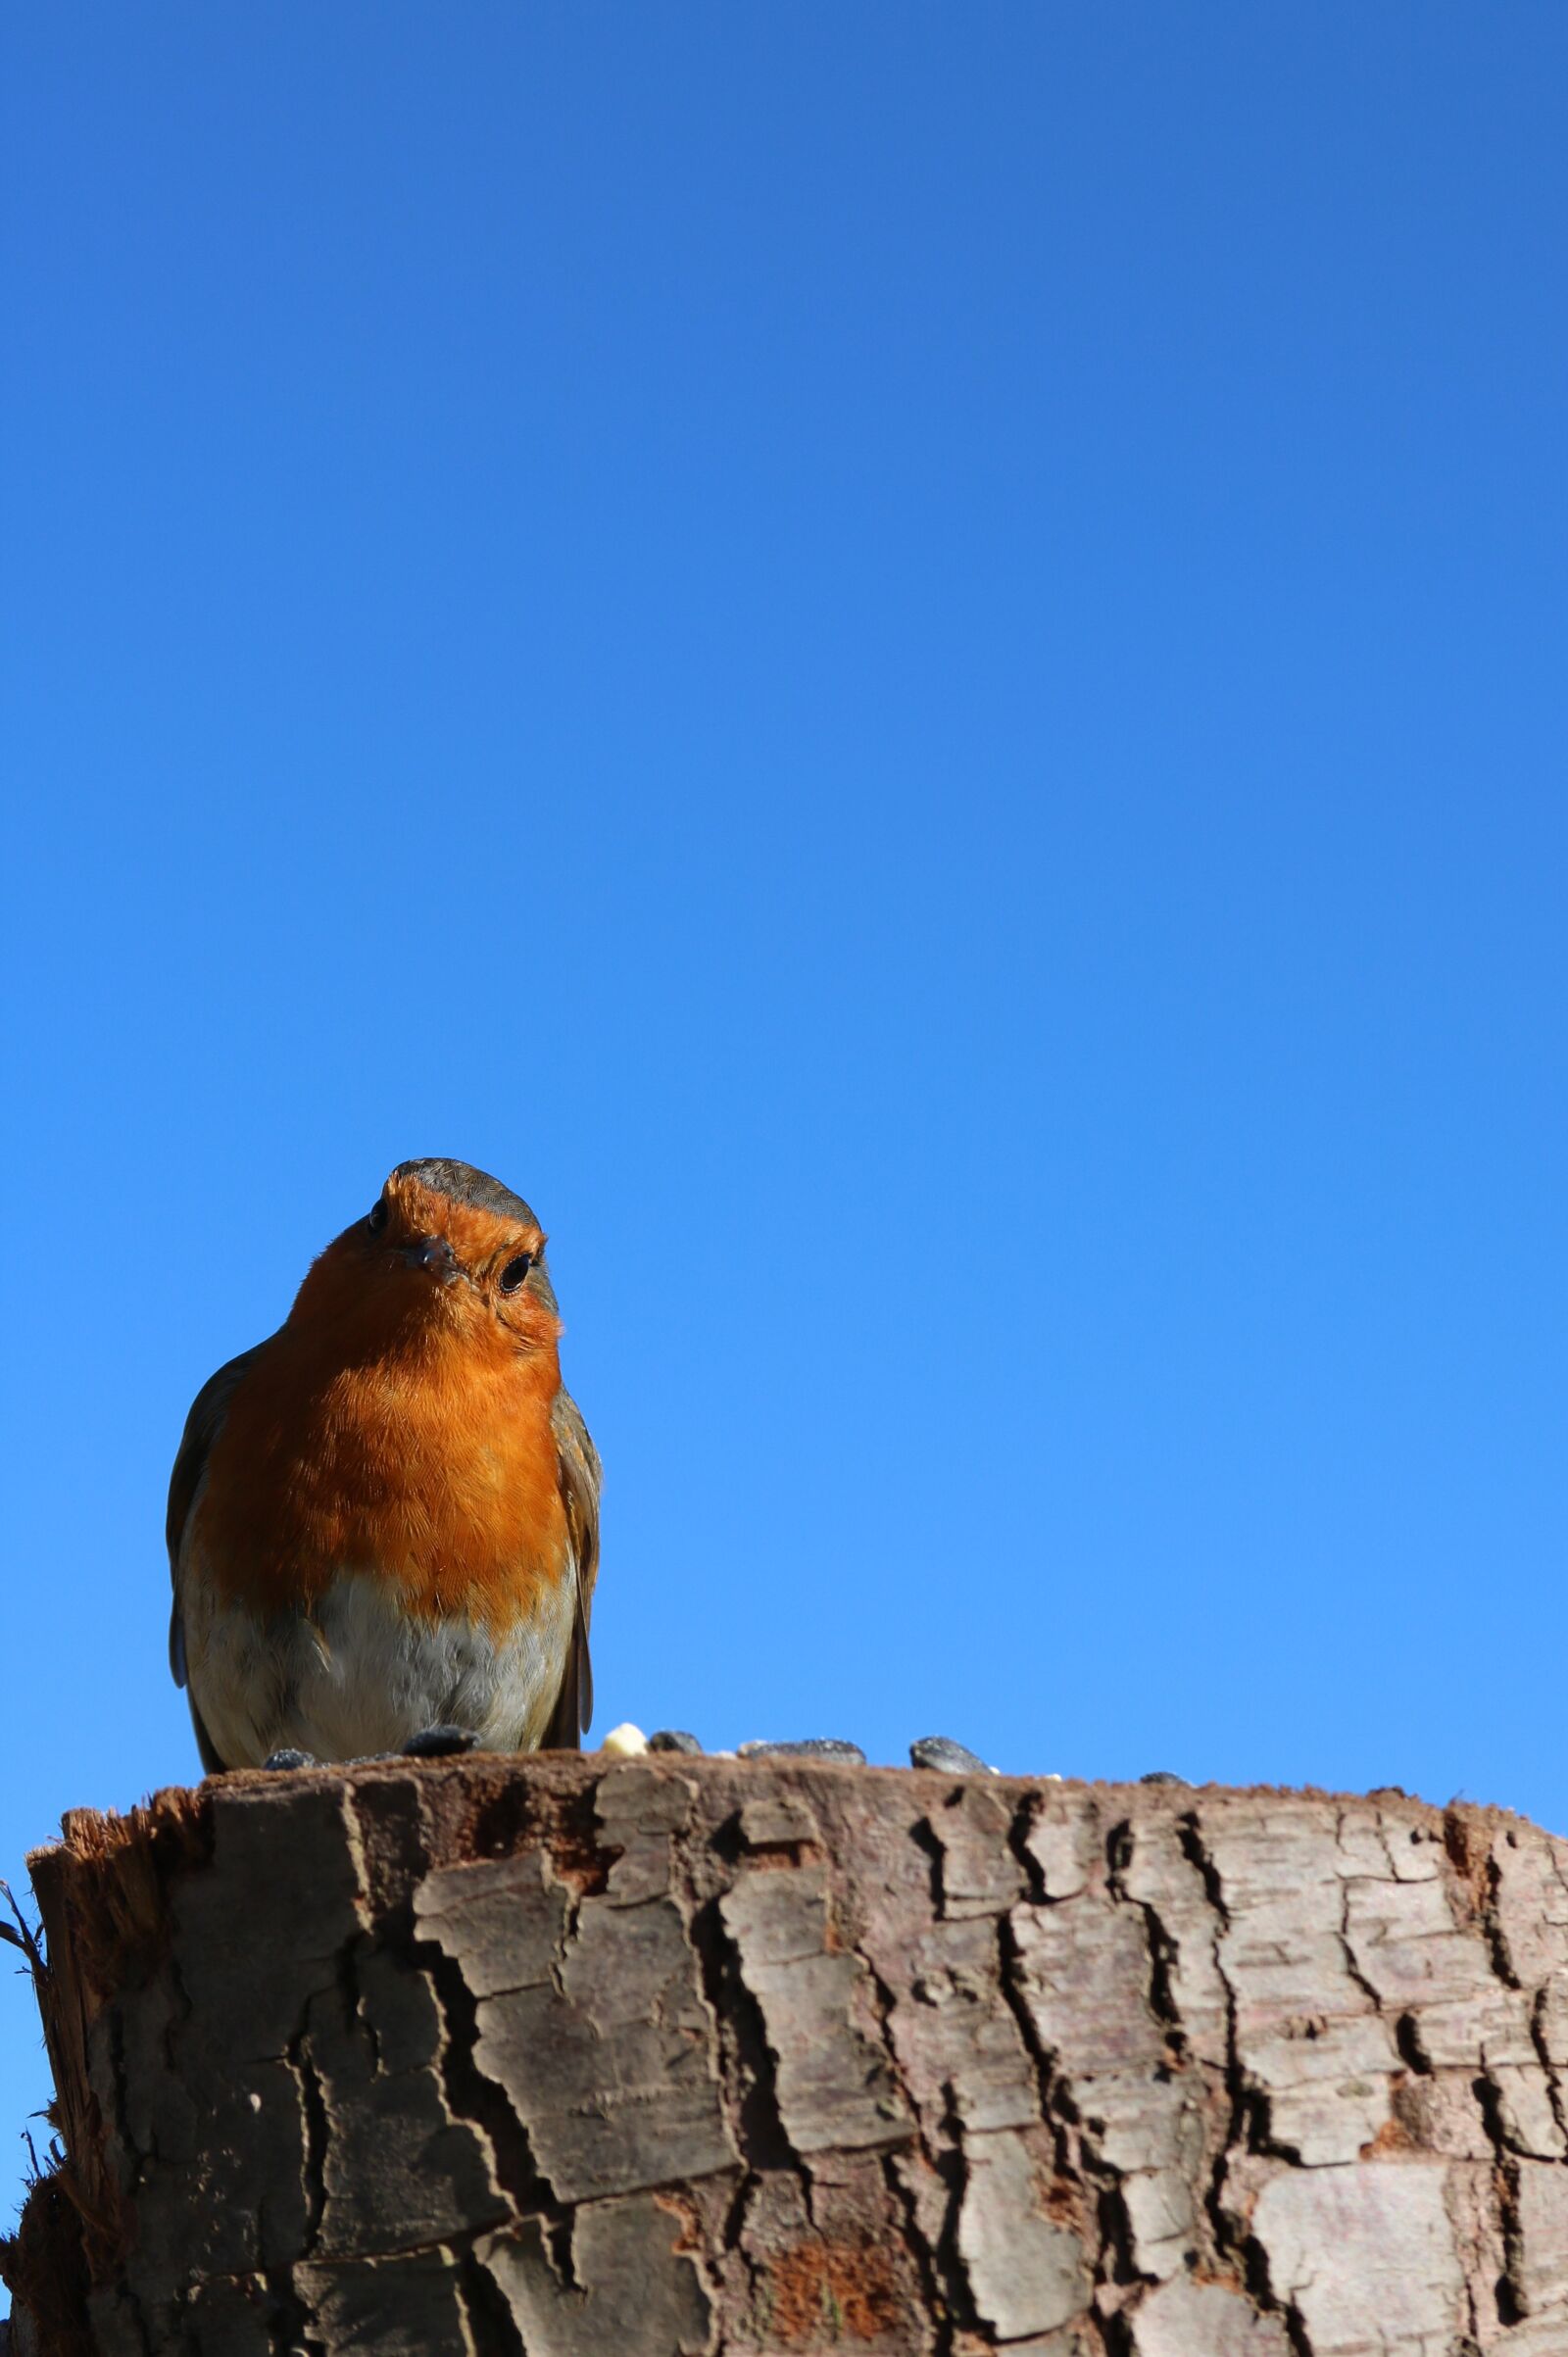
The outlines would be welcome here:
[[[1568,2357],[1568,1846],[1514,1817],[389,1761],[33,1874],[17,2357]]]

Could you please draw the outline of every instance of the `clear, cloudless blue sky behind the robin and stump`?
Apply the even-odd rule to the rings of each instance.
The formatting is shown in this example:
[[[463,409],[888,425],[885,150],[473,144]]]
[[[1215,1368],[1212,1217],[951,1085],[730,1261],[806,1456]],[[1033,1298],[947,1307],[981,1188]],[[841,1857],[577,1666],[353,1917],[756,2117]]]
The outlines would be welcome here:
[[[184,1409],[439,1153],[599,1730],[1568,1827],[1561,0],[5,45],[0,1869],[196,1775]]]

